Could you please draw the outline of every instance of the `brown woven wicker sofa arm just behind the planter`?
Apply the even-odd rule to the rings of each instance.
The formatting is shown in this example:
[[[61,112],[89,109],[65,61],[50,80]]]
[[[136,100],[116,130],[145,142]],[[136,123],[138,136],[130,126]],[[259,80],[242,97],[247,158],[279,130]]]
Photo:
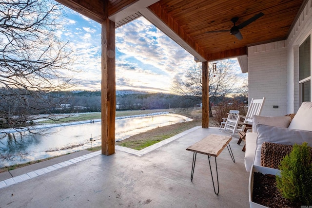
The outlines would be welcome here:
[[[292,151],[292,145],[264,142],[261,146],[261,166],[278,169],[281,159]]]

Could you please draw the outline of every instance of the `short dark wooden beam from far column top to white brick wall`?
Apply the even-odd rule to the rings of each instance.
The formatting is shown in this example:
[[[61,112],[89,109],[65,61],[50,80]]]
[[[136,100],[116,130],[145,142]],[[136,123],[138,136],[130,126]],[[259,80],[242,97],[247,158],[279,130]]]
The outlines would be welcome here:
[[[222,60],[243,55],[247,55],[247,47],[235,48],[227,51],[207,54],[207,61]]]

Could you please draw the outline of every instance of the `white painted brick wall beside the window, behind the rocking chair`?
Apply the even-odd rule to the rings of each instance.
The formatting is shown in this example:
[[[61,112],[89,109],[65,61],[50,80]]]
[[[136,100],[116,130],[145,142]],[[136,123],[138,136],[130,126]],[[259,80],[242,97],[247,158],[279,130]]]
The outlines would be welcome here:
[[[248,47],[249,101],[266,97],[261,115],[296,113],[299,108],[298,47],[312,36],[308,0],[287,40]],[[278,105],[278,109],[273,109]]]

